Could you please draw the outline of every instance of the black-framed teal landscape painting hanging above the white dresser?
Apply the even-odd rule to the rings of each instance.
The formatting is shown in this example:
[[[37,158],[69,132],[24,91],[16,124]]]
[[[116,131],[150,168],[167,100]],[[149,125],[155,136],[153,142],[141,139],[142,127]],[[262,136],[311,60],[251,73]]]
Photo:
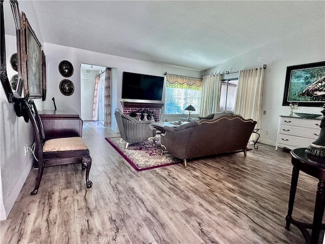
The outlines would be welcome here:
[[[325,104],[325,62],[286,68],[283,106],[321,107]]]

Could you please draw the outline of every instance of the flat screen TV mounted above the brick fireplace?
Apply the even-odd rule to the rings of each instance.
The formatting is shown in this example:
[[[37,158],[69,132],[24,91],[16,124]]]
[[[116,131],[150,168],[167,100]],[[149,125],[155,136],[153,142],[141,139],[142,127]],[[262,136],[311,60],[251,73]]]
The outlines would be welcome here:
[[[159,100],[164,77],[123,72],[122,99]]]

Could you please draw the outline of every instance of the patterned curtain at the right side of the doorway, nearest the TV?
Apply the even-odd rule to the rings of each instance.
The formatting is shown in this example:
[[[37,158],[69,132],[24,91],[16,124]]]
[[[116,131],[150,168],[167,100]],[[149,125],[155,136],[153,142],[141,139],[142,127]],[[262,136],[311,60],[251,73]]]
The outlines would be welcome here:
[[[104,87],[104,126],[111,127],[111,69],[105,70]]]

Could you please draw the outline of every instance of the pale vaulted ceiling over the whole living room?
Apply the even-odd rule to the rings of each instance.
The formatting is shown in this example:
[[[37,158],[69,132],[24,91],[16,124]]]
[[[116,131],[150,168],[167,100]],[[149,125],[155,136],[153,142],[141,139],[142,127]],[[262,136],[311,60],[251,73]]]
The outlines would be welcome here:
[[[44,42],[194,70],[325,28],[325,1],[29,2]]]

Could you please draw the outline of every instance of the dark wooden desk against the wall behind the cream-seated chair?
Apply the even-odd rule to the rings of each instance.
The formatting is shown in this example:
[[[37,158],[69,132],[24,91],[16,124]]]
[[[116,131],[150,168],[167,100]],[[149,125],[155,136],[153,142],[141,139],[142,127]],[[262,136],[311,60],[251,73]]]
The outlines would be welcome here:
[[[60,137],[82,137],[82,119],[74,110],[40,111],[46,140]]]

